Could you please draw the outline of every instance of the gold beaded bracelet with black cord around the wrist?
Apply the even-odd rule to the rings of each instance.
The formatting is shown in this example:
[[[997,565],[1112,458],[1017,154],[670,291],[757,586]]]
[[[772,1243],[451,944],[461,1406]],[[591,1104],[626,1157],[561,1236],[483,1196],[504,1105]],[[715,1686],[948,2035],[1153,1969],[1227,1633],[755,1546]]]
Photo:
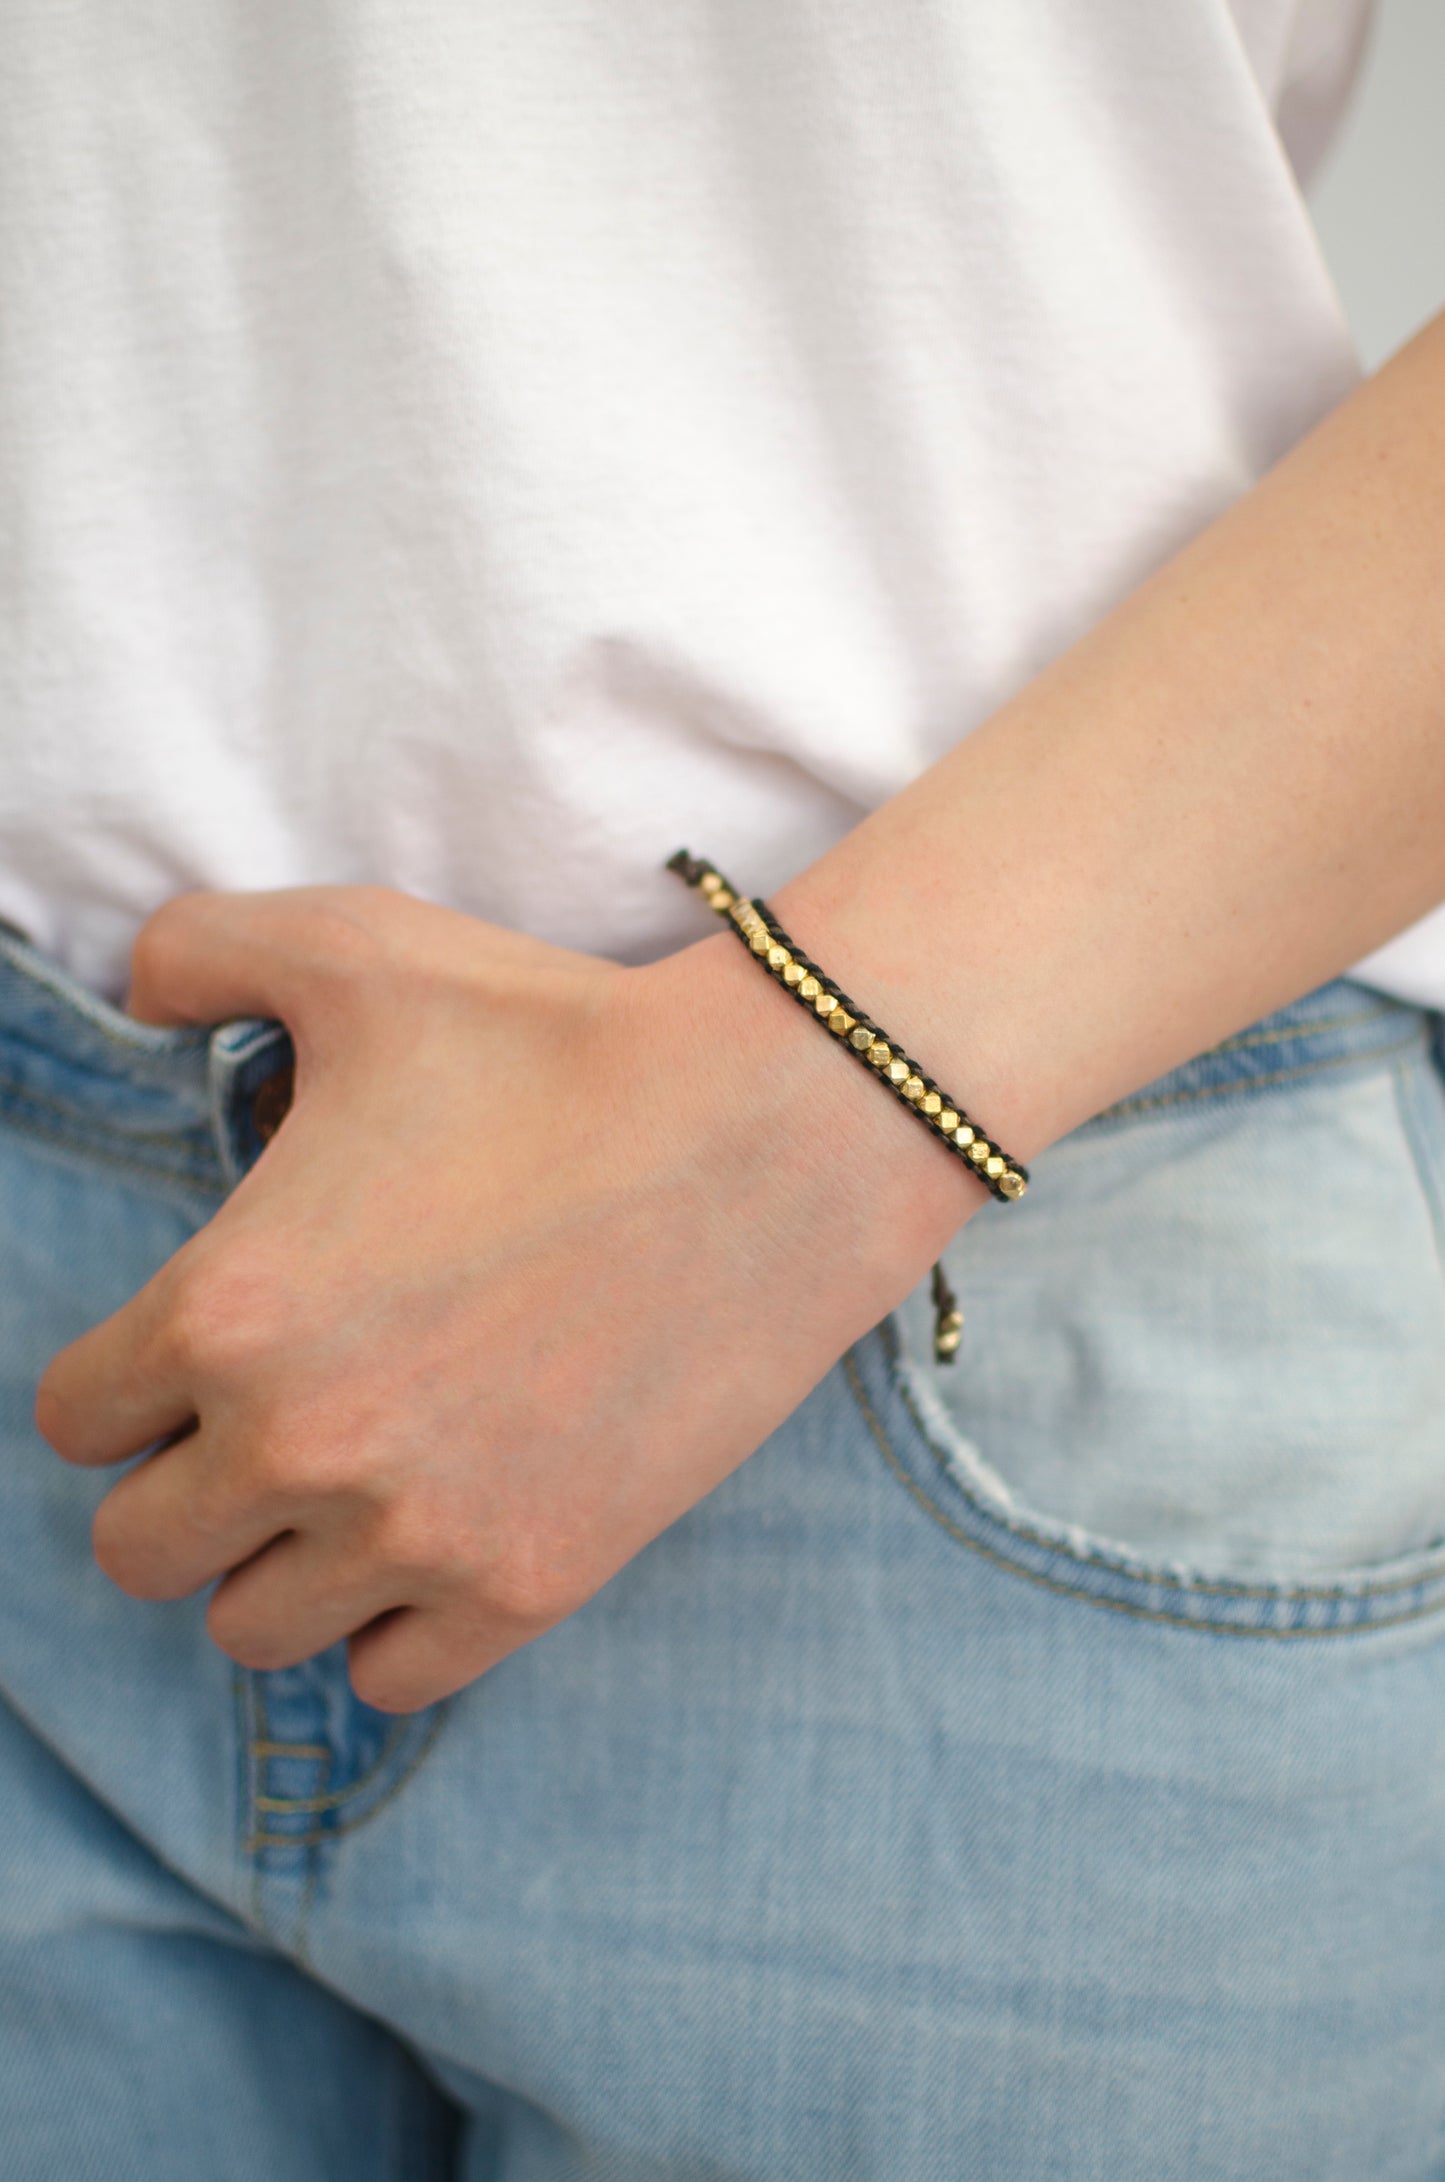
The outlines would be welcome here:
[[[1017,1202],[1028,1189],[1028,1167],[1011,1159],[993,1139],[969,1119],[958,1100],[941,1091],[932,1076],[925,1076],[880,1026],[849,999],[816,962],[795,945],[766,901],[749,901],[703,858],[679,849],[668,858],[668,871],[677,871],[688,886],[696,886],[709,908],[731,923],[749,954],[757,956],[768,975],[790,993],[801,1008],[808,1008],[843,1047],[871,1067],[877,1080],[895,1093],[899,1104],[923,1122],[939,1143],[960,1159],[971,1174],[1002,1202]],[[941,1364],[952,1362],[963,1338],[963,1311],[947,1287],[943,1268],[934,1266],[934,1355]]]

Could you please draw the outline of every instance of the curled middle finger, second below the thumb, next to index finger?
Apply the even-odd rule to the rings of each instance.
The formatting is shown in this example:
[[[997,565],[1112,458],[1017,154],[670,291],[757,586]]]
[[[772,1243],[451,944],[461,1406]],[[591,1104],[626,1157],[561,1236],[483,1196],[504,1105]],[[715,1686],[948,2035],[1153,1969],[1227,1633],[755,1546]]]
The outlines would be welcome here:
[[[290,1521],[203,1429],[111,1486],[92,1521],[98,1567],[133,1599],[183,1599],[264,1551]]]

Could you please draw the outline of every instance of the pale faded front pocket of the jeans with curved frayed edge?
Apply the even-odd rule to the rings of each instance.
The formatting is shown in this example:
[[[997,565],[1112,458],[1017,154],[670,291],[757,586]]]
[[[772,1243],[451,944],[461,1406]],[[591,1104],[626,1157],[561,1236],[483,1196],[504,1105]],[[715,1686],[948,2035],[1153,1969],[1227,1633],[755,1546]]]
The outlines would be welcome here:
[[[1249,1076],[1177,1071],[963,1231],[958,1362],[932,1364],[919,1290],[853,1364],[932,1514],[1026,1573],[1139,1610],[1168,1593],[1185,1619],[1231,1593],[1329,1621],[1329,1602],[1430,1591],[1445,1084],[1425,1017],[1384,1028],[1364,1054],[1316,1036]],[[1233,1043],[1275,1063],[1273,1036]]]

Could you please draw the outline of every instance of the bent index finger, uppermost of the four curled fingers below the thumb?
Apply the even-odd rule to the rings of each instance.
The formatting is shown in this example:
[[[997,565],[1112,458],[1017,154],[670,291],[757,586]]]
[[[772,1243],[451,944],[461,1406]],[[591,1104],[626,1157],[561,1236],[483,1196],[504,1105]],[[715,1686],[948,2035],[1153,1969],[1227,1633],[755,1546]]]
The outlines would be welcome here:
[[[63,1462],[124,1462],[192,1420],[196,1403],[175,1340],[179,1257],[39,1375],[35,1429]]]

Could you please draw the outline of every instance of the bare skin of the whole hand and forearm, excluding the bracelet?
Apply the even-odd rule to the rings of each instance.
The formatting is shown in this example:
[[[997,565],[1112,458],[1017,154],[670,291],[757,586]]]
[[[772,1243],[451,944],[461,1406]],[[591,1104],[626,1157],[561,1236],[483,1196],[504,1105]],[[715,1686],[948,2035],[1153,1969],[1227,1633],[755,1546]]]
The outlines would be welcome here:
[[[1028,1161],[1445,899],[1443,574],[1445,316],[781,923]],[[347,1639],[384,1711],[576,1610],[989,1202],[716,925],[620,969],[386,888],[190,892],[129,1008],[282,1017],[295,1100],[37,1425],[146,1455],[114,1582],[216,1584],[249,1667]]]

